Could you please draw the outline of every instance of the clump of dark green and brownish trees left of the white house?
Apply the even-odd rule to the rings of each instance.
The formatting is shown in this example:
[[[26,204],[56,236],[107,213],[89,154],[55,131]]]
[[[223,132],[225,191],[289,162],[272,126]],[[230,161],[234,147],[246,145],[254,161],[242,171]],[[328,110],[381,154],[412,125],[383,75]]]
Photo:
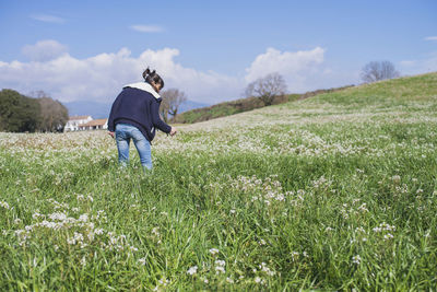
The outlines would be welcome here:
[[[33,97],[8,89],[0,91],[0,131],[62,131],[69,119],[67,107],[43,91],[31,95]]]

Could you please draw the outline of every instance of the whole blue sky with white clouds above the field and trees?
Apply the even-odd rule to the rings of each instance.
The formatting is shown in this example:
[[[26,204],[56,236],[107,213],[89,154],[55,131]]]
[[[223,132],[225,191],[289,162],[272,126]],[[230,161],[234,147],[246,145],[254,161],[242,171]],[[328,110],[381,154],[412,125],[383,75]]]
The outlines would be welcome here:
[[[426,73],[436,15],[435,0],[0,0],[0,89],[111,103],[151,67],[216,104],[273,72],[290,93],[359,84],[369,61]]]

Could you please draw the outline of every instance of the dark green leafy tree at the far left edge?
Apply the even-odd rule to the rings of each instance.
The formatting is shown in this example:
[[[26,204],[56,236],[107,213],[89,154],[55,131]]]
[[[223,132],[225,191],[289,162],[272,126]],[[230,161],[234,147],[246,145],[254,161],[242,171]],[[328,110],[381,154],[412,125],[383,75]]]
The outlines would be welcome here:
[[[0,130],[34,132],[40,125],[40,106],[34,100],[13,90],[0,91]]]

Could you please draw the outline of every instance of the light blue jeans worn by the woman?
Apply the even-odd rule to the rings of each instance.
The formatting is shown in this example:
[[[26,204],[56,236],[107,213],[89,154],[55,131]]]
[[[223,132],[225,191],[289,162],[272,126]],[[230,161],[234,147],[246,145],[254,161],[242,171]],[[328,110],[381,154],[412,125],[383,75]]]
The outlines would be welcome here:
[[[129,162],[130,139],[132,139],[133,143],[135,144],[143,168],[152,170],[151,144],[137,127],[129,124],[116,125],[118,162],[123,166],[126,166],[126,164]]]

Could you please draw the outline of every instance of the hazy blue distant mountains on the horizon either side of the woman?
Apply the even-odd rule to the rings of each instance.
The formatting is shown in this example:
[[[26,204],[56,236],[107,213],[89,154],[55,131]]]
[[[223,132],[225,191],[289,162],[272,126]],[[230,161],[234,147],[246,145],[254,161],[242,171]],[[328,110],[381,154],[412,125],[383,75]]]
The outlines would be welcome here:
[[[92,116],[94,119],[107,118],[113,105],[97,102],[78,101],[70,103],[62,103],[69,110],[69,116]],[[180,105],[179,113],[209,106],[209,104],[187,101]]]

